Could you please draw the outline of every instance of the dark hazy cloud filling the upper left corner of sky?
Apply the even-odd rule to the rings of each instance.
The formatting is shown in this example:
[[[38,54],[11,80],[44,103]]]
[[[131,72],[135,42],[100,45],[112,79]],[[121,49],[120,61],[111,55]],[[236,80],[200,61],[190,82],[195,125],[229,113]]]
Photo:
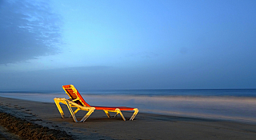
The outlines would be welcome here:
[[[48,1],[0,1],[0,64],[58,53],[61,20]]]

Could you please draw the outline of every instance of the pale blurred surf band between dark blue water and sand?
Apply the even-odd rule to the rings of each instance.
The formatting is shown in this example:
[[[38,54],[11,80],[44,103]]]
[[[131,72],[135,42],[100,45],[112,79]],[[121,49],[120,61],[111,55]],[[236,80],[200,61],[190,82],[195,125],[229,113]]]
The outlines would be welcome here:
[[[55,97],[69,98],[66,94],[0,94],[1,96],[52,103]],[[140,113],[256,123],[256,98],[87,94],[82,96],[91,106],[128,106],[138,108]]]

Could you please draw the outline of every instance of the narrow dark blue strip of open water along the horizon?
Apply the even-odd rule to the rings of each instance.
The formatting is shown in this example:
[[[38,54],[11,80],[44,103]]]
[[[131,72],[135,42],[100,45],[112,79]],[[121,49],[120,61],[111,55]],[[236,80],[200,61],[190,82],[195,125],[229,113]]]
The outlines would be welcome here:
[[[162,89],[162,90],[79,90],[90,95],[144,95],[144,96],[234,96],[256,97],[256,89]],[[0,91],[19,94],[61,94],[62,90]]]

